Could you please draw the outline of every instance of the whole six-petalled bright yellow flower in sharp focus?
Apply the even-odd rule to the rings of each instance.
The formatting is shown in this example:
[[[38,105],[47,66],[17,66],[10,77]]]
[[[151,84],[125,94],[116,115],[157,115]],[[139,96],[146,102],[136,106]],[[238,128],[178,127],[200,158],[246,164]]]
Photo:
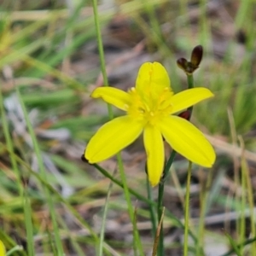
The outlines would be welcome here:
[[[183,90],[174,95],[165,67],[146,62],[140,67],[136,86],[125,92],[99,87],[91,94],[124,110],[96,132],[84,153],[90,164],[106,160],[133,143],[143,133],[147,152],[148,179],[152,186],[160,182],[164,168],[163,137],[188,160],[205,167],[215,161],[212,145],[188,120],[172,115],[212,97],[207,88]]]

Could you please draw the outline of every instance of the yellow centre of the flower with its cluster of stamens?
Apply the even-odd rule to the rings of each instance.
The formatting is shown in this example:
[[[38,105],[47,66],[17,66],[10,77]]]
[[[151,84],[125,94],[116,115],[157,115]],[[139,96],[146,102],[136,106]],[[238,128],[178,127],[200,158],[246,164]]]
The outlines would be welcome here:
[[[166,87],[158,95],[148,92],[139,93],[132,87],[128,91],[131,95],[131,104],[127,108],[127,113],[134,119],[145,122],[145,125],[155,125],[163,116],[172,113],[172,95],[170,88]]]

